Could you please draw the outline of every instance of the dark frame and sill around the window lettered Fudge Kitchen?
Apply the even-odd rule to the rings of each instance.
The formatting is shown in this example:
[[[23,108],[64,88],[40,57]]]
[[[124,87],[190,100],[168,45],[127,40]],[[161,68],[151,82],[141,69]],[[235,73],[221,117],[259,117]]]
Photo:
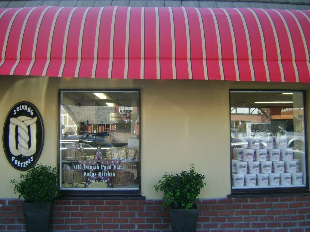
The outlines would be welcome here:
[[[138,161],[138,178],[139,178],[139,189],[137,190],[65,190],[60,189],[60,197],[58,199],[70,199],[70,198],[82,198],[82,199],[145,199],[145,196],[141,195],[141,92],[140,89],[133,88],[97,88],[97,89],[59,89],[58,91],[58,135],[57,135],[57,167],[58,167],[58,176],[61,172],[61,162],[60,162],[60,114],[61,114],[61,93],[65,91],[70,92],[129,92],[136,91],[138,93],[138,117],[139,117],[139,161]],[[58,186],[61,186],[60,178],[58,178]]]

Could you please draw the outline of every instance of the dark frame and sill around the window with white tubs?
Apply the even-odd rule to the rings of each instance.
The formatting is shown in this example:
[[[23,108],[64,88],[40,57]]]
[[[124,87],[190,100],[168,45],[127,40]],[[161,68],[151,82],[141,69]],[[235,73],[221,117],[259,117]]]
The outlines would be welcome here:
[[[304,112],[304,139],[305,139],[305,175],[306,184],[301,187],[268,187],[268,188],[242,188],[242,189],[233,189],[232,186],[232,127],[231,127],[231,92],[302,92],[303,94],[303,112]],[[236,197],[262,197],[266,196],[287,196],[287,195],[310,195],[309,191],[309,164],[308,164],[308,135],[307,135],[307,107],[306,107],[306,91],[299,89],[229,89],[229,141],[230,141],[230,191],[231,194],[228,195],[228,198]]]

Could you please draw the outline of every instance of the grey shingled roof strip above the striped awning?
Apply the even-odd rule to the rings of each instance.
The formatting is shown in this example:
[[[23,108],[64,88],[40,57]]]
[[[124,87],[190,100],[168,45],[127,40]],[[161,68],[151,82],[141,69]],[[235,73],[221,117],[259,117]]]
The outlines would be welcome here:
[[[140,6],[165,7],[189,6],[201,8],[265,8],[286,10],[310,10],[309,0],[0,0],[0,8],[29,6]]]

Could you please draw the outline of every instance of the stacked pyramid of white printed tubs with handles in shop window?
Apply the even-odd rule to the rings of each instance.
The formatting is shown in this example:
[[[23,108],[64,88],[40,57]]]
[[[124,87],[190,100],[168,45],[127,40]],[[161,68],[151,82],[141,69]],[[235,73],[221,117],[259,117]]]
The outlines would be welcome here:
[[[268,137],[267,137],[268,138]],[[234,187],[301,185],[303,172],[299,159],[287,139],[248,138],[245,148],[233,148],[232,184]]]

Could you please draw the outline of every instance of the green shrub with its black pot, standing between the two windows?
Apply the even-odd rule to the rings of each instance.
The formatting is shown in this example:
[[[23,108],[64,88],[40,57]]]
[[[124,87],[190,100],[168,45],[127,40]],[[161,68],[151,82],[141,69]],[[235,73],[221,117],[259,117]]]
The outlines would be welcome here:
[[[206,185],[205,176],[198,174],[193,164],[190,170],[173,175],[165,173],[154,185],[155,190],[163,192],[163,205],[170,205],[170,217],[174,232],[196,231],[198,208],[194,202],[198,200],[201,189]]]

